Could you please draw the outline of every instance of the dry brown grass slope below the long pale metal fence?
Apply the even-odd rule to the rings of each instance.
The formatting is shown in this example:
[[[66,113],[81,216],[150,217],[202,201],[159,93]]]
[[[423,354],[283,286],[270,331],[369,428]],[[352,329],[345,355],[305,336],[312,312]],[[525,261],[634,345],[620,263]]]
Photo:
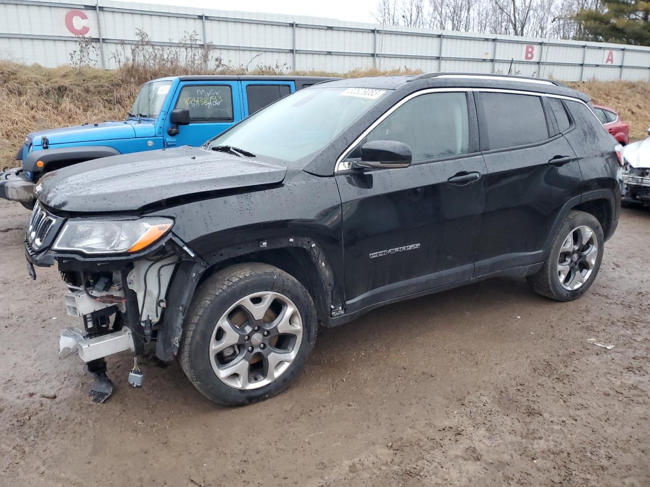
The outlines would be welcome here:
[[[242,74],[243,71],[220,69],[218,73]],[[273,69],[247,73],[278,74]],[[356,69],[344,74],[296,74],[361,77],[406,73],[409,71]],[[0,126],[0,164],[8,167],[16,165],[14,156],[23,137],[29,132],[84,122],[123,119],[142,82],[174,74],[185,72],[175,70],[172,73],[164,68],[104,71],[61,66],[50,69],[38,65],[0,62],[0,100],[5,106]],[[645,130],[650,125],[650,83],[591,81],[569,84],[588,93],[595,103],[618,110],[623,119],[630,123],[632,139],[645,137]]]

